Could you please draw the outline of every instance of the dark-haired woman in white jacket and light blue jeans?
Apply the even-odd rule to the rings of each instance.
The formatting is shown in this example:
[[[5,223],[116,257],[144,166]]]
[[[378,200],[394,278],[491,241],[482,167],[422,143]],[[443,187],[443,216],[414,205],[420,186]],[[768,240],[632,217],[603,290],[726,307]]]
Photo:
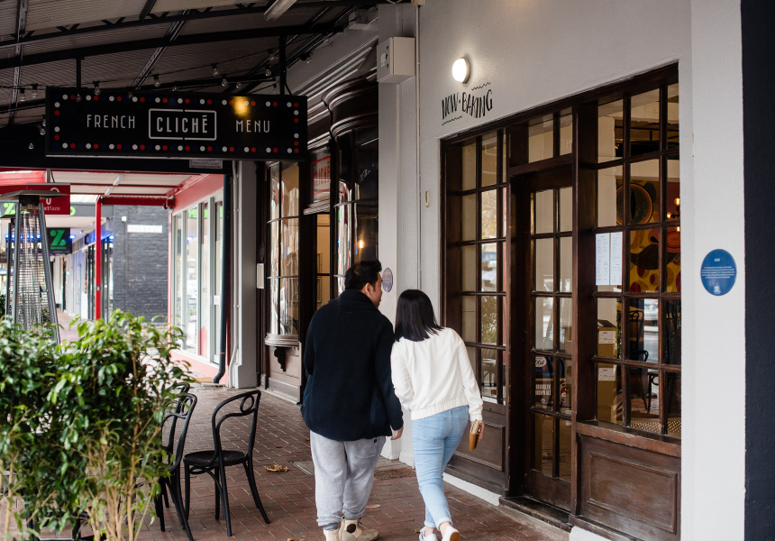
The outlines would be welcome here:
[[[460,336],[436,323],[431,299],[418,289],[398,298],[396,343],[390,356],[393,386],[412,412],[415,471],[425,502],[420,541],[459,541],[444,496],[442,473],[467,433],[469,419],[482,436],[482,399]]]

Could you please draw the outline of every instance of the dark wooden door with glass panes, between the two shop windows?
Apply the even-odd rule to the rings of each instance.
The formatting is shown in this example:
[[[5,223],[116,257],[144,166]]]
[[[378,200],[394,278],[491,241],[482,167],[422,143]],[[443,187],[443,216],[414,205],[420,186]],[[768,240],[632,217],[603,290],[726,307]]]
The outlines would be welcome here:
[[[571,277],[573,197],[570,168],[512,179],[516,227],[522,237],[522,295],[512,311],[526,340],[512,362],[523,378],[523,490],[570,509],[570,387],[574,340]],[[519,304],[518,304],[519,303]],[[521,306],[519,306],[521,304]]]

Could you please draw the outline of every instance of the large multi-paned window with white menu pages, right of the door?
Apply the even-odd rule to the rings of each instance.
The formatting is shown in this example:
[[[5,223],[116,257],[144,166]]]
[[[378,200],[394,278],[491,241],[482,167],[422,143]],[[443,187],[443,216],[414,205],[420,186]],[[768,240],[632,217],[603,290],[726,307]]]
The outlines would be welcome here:
[[[597,420],[681,434],[678,85],[598,105]]]

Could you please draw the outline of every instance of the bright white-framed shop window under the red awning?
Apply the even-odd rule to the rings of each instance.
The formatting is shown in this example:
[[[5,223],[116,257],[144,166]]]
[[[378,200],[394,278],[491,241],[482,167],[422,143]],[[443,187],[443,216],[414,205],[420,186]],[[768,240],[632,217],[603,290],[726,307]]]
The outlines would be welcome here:
[[[216,209],[216,219],[212,219]],[[182,349],[213,360],[220,315],[223,202],[211,197],[172,218],[172,321],[183,329]],[[216,285],[217,284],[217,285]],[[216,291],[217,289],[217,291]]]

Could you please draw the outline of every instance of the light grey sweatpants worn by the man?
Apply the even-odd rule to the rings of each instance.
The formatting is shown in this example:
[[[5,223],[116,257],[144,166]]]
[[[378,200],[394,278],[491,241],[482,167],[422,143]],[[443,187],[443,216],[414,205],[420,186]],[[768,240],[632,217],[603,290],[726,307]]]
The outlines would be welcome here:
[[[315,504],[317,524],[333,530],[342,521],[363,516],[374,484],[374,468],[385,436],[337,442],[309,433],[315,463]]]

